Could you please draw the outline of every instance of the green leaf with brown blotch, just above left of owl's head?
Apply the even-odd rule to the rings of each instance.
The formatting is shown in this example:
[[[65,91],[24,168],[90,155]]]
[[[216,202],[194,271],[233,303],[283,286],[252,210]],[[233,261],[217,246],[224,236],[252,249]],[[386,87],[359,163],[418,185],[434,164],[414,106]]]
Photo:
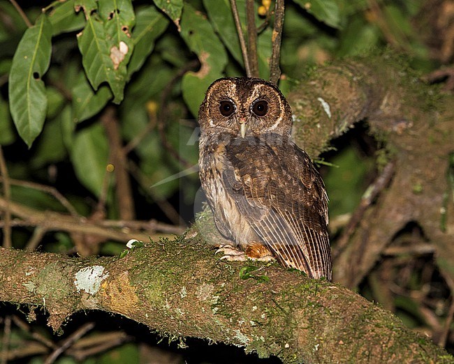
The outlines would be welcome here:
[[[182,80],[184,101],[196,116],[207,87],[222,76],[227,53],[207,18],[187,3],[182,16],[181,36],[202,64],[197,73],[188,72]]]

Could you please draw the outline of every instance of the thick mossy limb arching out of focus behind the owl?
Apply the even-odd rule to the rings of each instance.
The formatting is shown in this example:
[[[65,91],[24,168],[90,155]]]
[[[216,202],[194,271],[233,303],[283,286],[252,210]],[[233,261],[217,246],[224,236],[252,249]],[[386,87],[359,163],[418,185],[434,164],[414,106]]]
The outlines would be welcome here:
[[[392,178],[335,256],[334,280],[357,287],[407,224],[422,229],[454,289],[454,98],[424,84],[403,59],[384,55],[321,68],[288,96],[296,142],[313,158],[366,121]],[[383,167],[383,166],[381,166]],[[452,173],[452,172],[451,172]],[[329,195],[329,191],[328,191]],[[336,249],[336,248],[335,248]]]

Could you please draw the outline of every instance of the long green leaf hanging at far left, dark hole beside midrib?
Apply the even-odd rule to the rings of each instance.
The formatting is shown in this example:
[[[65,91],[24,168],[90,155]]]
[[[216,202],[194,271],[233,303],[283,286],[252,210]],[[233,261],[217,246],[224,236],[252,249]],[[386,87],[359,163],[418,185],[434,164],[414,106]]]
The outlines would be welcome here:
[[[47,110],[42,80],[50,64],[52,25],[47,15],[25,31],[13,57],[9,76],[10,111],[20,137],[30,147],[43,129]]]

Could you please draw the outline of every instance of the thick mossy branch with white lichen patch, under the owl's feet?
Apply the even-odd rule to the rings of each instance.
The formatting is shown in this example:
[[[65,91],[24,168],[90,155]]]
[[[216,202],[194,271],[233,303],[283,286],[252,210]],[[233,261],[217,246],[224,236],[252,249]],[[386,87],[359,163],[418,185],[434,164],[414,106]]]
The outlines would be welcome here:
[[[74,312],[96,308],[169,335],[274,354],[285,363],[358,362],[365,355],[384,363],[448,358],[349,289],[276,264],[258,273],[268,282],[244,280],[242,265],[220,261],[197,240],[155,243],[122,259],[1,248],[0,301],[44,304],[54,330]]]

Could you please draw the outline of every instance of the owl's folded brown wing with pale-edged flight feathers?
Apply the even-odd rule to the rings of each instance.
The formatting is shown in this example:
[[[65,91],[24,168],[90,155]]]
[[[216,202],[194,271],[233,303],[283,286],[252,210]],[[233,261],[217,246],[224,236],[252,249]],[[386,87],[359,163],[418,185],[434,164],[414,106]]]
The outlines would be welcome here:
[[[293,142],[273,141],[247,137],[226,147],[232,167],[223,176],[227,192],[282,264],[331,279],[328,196],[321,176]]]

